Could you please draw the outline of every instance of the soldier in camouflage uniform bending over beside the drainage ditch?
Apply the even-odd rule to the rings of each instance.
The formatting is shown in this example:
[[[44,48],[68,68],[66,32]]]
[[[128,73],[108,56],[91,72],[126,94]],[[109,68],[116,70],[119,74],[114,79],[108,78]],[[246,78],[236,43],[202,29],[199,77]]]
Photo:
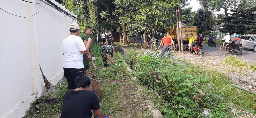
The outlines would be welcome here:
[[[103,45],[100,47],[100,54],[102,56],[102,61],[104,62],[104,67],[108,67],[108,60],[111,63],[114,63],[114,61],[112,61],[110,59],[110,55],[113,54],[113,52],[118,51],[117,47],[114,47],[112,45]]]

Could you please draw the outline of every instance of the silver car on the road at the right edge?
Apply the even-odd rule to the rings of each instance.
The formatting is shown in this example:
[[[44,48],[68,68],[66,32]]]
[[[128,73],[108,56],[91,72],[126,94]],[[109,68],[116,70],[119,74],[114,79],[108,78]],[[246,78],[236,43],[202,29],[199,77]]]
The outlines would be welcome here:
[[[243,48],[253,49],[256,51],[256,35],[240,36]]]

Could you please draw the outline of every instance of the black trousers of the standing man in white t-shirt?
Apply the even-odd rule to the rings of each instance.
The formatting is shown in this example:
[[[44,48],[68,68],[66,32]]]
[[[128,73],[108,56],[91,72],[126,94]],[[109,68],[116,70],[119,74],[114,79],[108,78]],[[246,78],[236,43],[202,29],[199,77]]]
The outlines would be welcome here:
[[[84,69],[76,69],[76,68],[63,68],[64,76],[68,81],[68,89],[76,89],[75,88],[75,78],[79,75],[84,75]]]

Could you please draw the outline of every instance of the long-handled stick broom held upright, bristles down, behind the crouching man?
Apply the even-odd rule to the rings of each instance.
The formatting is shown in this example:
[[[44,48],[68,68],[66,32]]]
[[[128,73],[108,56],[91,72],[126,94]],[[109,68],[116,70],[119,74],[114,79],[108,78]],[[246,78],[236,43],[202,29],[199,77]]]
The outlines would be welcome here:
[[[90,38],[90,37],[89,37]],[[91,45],[90,45],[90,54],[92,56],[92,50],[91,50]],[[91,64],[93,65],[92,59],[91,59]],[[99,101],[101,101],[103,99],[103,94],[100,90],[100,87],[96,81],[96,75],[94,74],[94,70],[93,70],[93,66],[92,66],[92,91],[97,95]]]

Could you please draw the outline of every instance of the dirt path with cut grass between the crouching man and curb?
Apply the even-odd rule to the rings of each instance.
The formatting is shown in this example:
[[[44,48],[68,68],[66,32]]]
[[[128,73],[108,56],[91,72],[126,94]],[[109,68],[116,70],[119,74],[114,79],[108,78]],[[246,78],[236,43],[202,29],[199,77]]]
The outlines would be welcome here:
[[[104,71],[104,69],[106,68],[100,67],[98,69],[100,69],[100,71]],[[143,90],[140,88],[138,80],[131,79],[132,76],[129,71],[127,71],[127,73],[118,73],[115,76],[120,79],[110,79],[110,81],[107,81],[104,80],[104,78],[99,78],[98,84],[100,86],[118,86],[118,89],[115,90],[114,93],[105,95],[105,100],[103,99],[102,104],[107,106],[101,106],[108,107],[113,105],[116,106],[114,107],[116,109],[104,111],[103,108],[101,109],[102,113],[106,113],[107,115],[109,115],[110,118],[152,118],[151,113],[145,104],[145,100],[147,100],[148,98],[142,93]],[[114,103],[112,102],[112,100]],[[113,107],[109,108],[111,109]]]

